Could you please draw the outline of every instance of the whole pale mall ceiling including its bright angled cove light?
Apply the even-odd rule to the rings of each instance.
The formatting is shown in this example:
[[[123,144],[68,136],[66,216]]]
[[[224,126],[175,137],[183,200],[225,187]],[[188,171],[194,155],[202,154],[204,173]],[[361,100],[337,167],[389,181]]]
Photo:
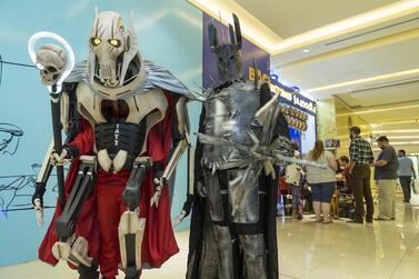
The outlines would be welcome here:
[[[188,1],[225,21],[237,13],[283,83],[338,98],[372,136],[419,153],[419,0]]]

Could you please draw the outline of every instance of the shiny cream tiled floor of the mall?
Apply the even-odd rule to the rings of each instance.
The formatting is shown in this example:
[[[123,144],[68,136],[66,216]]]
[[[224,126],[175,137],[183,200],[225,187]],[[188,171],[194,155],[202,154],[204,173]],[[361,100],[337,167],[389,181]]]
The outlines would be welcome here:
[[[400,197],[399,197],[400,198]],[[398,199],[400,200],[400,199]],[[396,221],[373,225],[315,223],[278,219],[282,279],[413,279],[419,278],[419,197],[397,206]],[[141,278],[184,278],[188,232],[177,233],[181,251],[159,270]],[[51,268],[39,261],[0,268],[1,279],[70,279],[77,273],[64,265]],[[118,278],[123,278],[120,276]]]

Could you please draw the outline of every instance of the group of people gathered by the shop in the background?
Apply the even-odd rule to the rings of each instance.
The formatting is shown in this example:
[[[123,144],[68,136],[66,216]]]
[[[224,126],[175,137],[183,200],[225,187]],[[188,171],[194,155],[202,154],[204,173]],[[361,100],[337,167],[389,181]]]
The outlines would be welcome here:
[[[323,165],[325,168],[290,163],[279,179],[278,215],[302,220],[313,213],[315,221],[330,223],[348,218],[352,223],[371,223],[396,219],[396,190],[400,185],[403,202],[409,203],[415,186],[413,162],[406,150],[396,150],[386,136],[377,138],[380,152],[375,158],[371,143],[359,127],[349,131],[348,156],[336,158],[336,149],[326,149],[317,140],[312,150],[301,157],[293,143],[295,158]],[[373,169],[373,171],[371,171]],[[373,175],[372,175],[373,173]],[[375,213],[371,180],[377,185],[378,212]]]

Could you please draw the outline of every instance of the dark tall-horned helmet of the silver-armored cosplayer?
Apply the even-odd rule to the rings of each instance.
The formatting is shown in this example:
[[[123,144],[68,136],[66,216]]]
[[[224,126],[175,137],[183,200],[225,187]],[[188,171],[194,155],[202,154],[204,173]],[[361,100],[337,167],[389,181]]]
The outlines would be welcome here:
[[[241,30],[239,18],[232,14],[235,27],[229,24],[230,43],[218,43],[217,28],[213,21],[208,24],[211,52],[217,56],[219,79],[222,83],[242,79],[241,67]]]

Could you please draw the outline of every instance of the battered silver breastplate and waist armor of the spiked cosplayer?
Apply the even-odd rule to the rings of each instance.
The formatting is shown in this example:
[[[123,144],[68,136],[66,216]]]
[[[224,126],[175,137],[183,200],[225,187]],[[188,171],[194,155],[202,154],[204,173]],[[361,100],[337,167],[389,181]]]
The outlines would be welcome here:
[[[255,113],[260,94],[250,82],[235,82],[221,91],[212,91],[206,106],[204,133],[235,143],[251,146],[249,131],[257,132]],[[237,148],[221,145],[203,147],[203,165],[209,169],[241,168],[249,165],[250,156]]]

